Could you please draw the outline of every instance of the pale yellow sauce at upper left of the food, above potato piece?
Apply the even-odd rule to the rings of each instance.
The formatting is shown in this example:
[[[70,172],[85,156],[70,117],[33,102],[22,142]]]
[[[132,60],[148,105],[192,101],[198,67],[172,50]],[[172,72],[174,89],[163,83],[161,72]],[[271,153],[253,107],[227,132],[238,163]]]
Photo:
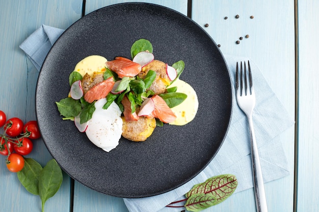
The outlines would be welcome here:
[[[105,72],[105,63],[108,60],[100,55],[87,56],[78,62],[74,68],[74,71],[84,76],[88,73],[91,77],[94,72]]]

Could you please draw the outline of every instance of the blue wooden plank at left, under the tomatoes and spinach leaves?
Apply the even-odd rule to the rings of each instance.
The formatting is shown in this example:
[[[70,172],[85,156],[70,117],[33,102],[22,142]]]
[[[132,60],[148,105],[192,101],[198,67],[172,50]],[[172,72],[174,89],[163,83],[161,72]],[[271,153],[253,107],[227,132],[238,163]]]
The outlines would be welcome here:
[[[1,1],[0,7],[0,109],[7,117],[17,116],[23,122],[36,119],[35,88],[38,71],[19,45],[41,24],[66,28],[81,17],[82,0],[72,3],[56,1]],[[3,130],[1,130],[3,133]],[[42,139],[34,142],[33,153],[42,166],[51,159]],[[41,211],[41,200],[26,191],[15,173],[7,170],[5,157],[0,163],[0,211]],[[45,204],[45,211],[69,211],[70,177],[63,176],[59,192]]]

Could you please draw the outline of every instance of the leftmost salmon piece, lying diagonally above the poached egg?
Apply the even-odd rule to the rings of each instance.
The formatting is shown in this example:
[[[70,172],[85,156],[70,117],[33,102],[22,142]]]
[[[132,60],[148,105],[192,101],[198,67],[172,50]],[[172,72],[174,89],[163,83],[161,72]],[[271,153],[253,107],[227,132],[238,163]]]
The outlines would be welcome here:
[[[99,100],[108,96],[114,86],[113,77],[103,80],[91,87],[84,95],[84,100],[92,103],[94,100]]]

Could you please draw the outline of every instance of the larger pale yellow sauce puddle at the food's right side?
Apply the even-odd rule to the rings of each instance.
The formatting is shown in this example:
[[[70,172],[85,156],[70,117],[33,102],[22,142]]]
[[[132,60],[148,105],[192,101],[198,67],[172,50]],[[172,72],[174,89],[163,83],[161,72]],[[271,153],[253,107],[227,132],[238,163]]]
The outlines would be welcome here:
[[[180,79],[176,80],[169,87],[177,87],[176,92],[184,93],[187,98],[179,105],[171,108],[177,118],[170,125],[186,125],[194,118],[198,110],[198,98],[194,88]]]

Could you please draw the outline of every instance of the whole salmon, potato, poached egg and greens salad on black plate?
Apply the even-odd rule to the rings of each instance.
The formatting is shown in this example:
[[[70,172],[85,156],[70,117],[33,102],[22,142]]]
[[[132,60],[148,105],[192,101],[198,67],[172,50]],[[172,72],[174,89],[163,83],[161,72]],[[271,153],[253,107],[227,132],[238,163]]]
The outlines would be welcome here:
[[[156,126],[184,117],[185,111],[172,110],[188,98],[187,92],[177,92],[174,85],[188,85],[179,80],[184,62],[179,60],[170,66],[154,59],[152,52],[152,44],[140,39],[131,46],[132,59],[115,57],[108,61],[99,55],[84,58],[76,67],[91,60],[99,68],[75,67],[70,73],[69,95],[56,102],[63,119],[73,120],[80,132],[109,152],[121,136],[145,141]],[[195,112],[185,123],[194,118],[198,108],[195,91],[190,94]]]

